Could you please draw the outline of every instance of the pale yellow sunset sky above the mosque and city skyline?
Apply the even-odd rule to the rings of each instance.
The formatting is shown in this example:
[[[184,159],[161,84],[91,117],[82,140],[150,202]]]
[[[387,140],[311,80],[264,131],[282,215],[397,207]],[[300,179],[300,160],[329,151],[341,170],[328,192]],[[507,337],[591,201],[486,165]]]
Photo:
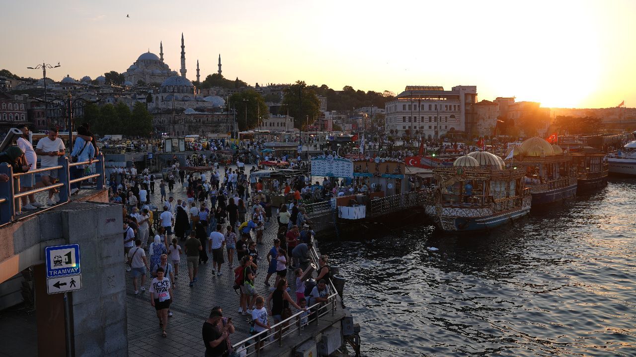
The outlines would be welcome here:
[[[0,69],[48,77],[124,72],[143,52],[188,78],[396,93],[476,85],[479,99],[636,106],[636,1],[9,1]],[[130,15],[127,18],[126,15]]]

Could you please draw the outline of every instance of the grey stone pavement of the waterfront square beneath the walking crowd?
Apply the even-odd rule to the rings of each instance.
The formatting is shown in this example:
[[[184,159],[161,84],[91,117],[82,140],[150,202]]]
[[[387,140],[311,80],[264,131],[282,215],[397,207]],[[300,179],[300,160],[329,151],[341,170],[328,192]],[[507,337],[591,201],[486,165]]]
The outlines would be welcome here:
[[[249,165],[246,167],[249,170]],[[219,173],[220,170],[219,170]],[[222,174],[222,173],[221,173]],[[223,174],[222,174],[223,175]],[[209,175],[207,175],[209,177]],[[170,196],[170,192],[167,192]],[[180,185],[175,185],[172,196],[175,199],[186,199],[186,190]],[[151,203],[160,203],[158,183],[155,194],[151,196]],[[209,202],[208,202],[209,203]],[[276,236],[278,224],[266,225],[263,234],[263,245],[258,245],[259,261],[258,274],[255,280],[257,292],[265,299],[270,291],[265,286],[265,276],[267,271],[266,255],[272,247],[273,239]],[[253,236],[253,233],[252,233]],[[183,243],[179,243],[183,248]],[[227,254],[227,252],[225,251]],[[159,327],[155,308],[150,305],[148,290],[139,295],[134,294],[132,288],[132,278],[130,273],[126,273],[127,285],[127,315],[128,315],[128,352],[130,357],[137,356],[204,356],[204,343],[202,340],[202,326],[209,315],[212,307],[221,306],[223,316],[232,316],[232,321],[236,332],[231,335],[232,344],[245,339],[248,336],[248,317],[243,316],[239,310],[239,295],[233,290],[234,273],[233,269],[239,265],[235,255],[232,267],[229,267],[227,255],[225,264],[222,267],[222,276],[213,276],[209,271],[212,269],[212,259],[207,264],[199,266],[198,281],[195,286],[188,286],[188,267],[185,255],[181,255],[179,264],[179,276],[176,281],[176,289],[173,290],[174,297],[170,310],[174,314],[169,320],[167,328],[168,337],[161,336],[162,329]],[[123,264],[122,264],[122,269]],[[295,278],[293,272],[289,271],[287,276],[292,292],[295,290]],[[146,278],[146,289],[149,287],[151,279]],[[273,285],[275,276],[270,278]],[[291,294],[294,296],[294,294]]]

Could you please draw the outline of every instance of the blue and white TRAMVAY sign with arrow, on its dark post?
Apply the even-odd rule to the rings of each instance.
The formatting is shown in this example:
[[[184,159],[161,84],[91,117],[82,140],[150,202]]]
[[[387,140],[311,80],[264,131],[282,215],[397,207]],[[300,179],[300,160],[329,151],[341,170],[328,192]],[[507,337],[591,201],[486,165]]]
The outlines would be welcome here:
[[[66,356],[73,352],[73,321],[69,292],[81,289],[81,259],[79,245],[58,245],[45,248],[46,292],[64,293],[64,330],[66,332]]]

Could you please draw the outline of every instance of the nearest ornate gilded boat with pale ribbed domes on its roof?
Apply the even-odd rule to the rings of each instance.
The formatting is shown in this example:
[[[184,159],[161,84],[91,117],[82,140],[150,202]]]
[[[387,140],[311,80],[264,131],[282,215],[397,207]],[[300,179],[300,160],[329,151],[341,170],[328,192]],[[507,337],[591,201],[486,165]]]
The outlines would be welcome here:
[[[520,219],[532,200],[524,175],[490,152],[471,152],[433,169],[438,187],[425,213],[445,232],[487,231]]]

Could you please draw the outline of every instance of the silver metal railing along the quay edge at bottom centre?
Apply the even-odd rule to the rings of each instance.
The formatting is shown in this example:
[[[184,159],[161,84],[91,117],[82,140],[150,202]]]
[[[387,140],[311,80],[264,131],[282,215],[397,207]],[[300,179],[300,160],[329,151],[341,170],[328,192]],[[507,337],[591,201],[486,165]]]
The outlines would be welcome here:
[[[315,264],[318,264],[318,254],[315,251],[315,248],[311,249],[311,259]],[[237,349],[241,346],[247,348],[247,356],[260,356],[261,351],[265,348],[272,346],[276,342],[278,342],[276,347],[282,347],[282,339],[293,333],[297,333],[298,336],[301,336],[305,327],[309,326],[311,323],[318,325],[320,323],[320,318],[329,313],[329,307],[331,307],[331,316],[334,316],[336,313],[336,301],[338,299],[338,292],[336,291],[335,286],[332,281],[329,281],[329,289],[331,290],[331,295],[327,297],[326,302],[319,302],[312,306],[307,306],[307,312],[310,313],[309,316],[302,316],[305,311],[298,311],[297,313],[289,316],[288,318],[280,321],[279,323],[275,323],[270,327],[270,329],[265,329],[261,332],[255,333],[251,337],[247,337],[246,339],[241,340],[233,344],[233,349]],[[271,316],[270,316],[271,318]],[[307,320],[305,320],[307,319]],[[293,323],[293,325],[290,325]],[[270,330],[274,333],[273,339],[268,339],[268,333]],[[265,339],[267,339],[265,341]],[[258,346],[259,344],[263,344],[263,346]]]

